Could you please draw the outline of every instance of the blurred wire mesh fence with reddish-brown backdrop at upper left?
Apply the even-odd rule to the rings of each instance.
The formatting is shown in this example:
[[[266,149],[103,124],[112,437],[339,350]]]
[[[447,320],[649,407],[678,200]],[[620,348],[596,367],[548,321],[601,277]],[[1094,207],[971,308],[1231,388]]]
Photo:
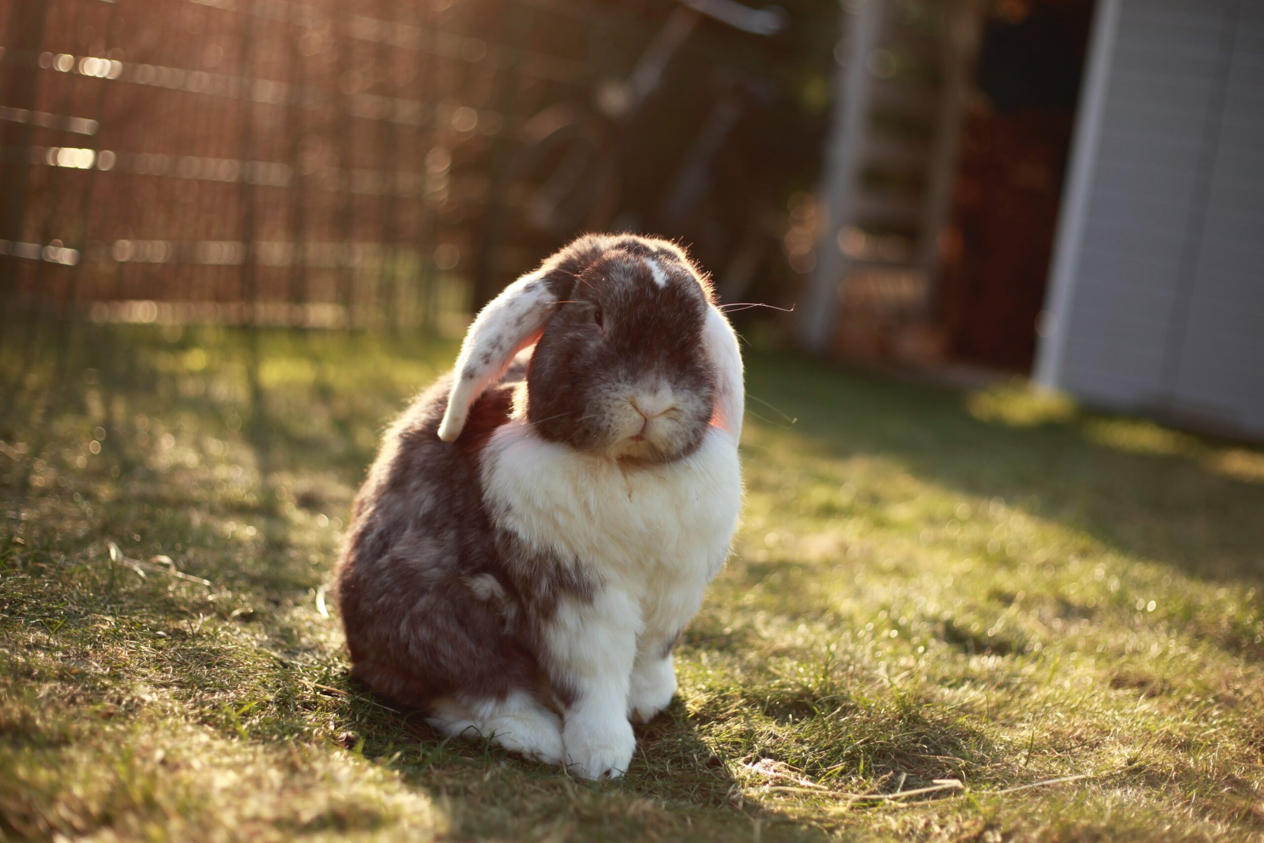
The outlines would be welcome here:
[[[464,305],[511,112],[594,72],[592,15],[540,0],[0,10],[10,307],[432,322]]]

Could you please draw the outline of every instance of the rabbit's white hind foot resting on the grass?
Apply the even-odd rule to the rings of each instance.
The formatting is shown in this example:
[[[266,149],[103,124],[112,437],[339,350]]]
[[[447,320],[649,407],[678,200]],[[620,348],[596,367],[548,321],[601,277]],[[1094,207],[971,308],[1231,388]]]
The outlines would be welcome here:
[[[426,722],[446,736],[478,734],[533,761],[562,762],[561,718],[526,691],[503,701],[441,696],[431,701],[428,714]]]

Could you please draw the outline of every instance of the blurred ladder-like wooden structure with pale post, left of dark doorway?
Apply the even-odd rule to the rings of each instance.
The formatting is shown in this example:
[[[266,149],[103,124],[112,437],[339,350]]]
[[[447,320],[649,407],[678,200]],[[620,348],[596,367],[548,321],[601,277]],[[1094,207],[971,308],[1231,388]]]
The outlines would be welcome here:
[[[796,330],[817,353],[844,317],[924,320],[951,210],[981,0],[844,3],[817,265]]]

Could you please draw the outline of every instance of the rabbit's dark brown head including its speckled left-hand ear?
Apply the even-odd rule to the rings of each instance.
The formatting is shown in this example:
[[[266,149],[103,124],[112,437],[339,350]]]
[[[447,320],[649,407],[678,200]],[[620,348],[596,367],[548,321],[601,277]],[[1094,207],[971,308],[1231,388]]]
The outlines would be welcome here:
[[[440,437],[455,440],[469,404],[535,343],[526,417],[544,439],[643,463],[685,456],[717,415],[712,311],[709,287],[676,246],[581,238],[479,313]]]

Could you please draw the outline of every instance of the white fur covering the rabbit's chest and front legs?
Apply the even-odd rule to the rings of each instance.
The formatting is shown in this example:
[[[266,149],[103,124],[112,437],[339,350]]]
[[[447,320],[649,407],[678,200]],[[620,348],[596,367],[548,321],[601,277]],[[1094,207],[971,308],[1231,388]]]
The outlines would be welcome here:
[[[732,359],[717,367],[732,388]],[[737,389],[736,404],[726,393],[727,413],[741,408],[739,380]],[[670,701],[675,676],[659,655],[728,555],[742,502],[734,431],[709,427],[688,458],[629,466],[545,441],[516,418],[492,435],[483,482],[499,527],[576,560],[598,584],[590,603],[561,602],[545,646],[576,690],[568,765],[584,777],[618,776],[635,749],[628,713],[652,715]]]

